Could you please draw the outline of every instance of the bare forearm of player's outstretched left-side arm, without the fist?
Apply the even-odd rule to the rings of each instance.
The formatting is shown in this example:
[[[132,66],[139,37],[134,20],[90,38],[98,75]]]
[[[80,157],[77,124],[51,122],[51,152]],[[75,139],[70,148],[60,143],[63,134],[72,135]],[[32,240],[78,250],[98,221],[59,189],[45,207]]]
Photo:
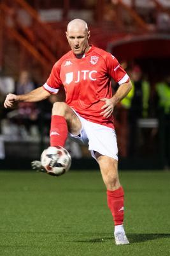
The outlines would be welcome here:
[[[50,93],[43,89],[43,86],[22,95],[17,95],[17,102],[38,102],[45,100],[50,96]]]

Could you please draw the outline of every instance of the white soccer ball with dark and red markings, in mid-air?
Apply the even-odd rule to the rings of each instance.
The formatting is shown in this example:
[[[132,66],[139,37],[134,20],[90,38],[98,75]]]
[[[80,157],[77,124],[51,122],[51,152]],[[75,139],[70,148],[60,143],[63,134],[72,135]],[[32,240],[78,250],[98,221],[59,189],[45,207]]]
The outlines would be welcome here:
[[[48,147],[41,154],[41,165],[48,174],[60,176],[68,172],[71,156],[63,147]]]

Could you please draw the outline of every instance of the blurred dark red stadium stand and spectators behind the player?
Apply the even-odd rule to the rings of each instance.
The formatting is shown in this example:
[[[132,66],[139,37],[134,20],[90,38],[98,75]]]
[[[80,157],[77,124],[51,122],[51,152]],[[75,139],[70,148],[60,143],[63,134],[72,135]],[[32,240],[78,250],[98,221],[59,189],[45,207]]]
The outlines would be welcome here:
[[[90,44],[117,57],[132,80],[114,113],[120,168],[169,170],[169,0],[1,0],[0,169],[29,169],[48,147],[55,95],[10,110],[3,102],[7,93],[27,93],[46,82],[69,51],[66,26],[76,18],[89,24]],[[96,168],[86,147],[68,139],[66,148],[73,168]]]

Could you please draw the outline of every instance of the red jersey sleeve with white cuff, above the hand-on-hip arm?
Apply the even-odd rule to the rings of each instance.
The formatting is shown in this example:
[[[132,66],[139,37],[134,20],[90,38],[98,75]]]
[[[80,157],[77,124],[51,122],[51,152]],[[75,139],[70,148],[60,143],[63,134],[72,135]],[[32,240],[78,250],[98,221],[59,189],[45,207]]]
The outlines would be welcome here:
[[[108,74],[119,85],[129,81],[129,76],[125,72],[124,68],[122,68],[120,63],[118,63],[117,58],[115,58],[112,54],[108,54],[106,58],[106,66],[108,69]]]

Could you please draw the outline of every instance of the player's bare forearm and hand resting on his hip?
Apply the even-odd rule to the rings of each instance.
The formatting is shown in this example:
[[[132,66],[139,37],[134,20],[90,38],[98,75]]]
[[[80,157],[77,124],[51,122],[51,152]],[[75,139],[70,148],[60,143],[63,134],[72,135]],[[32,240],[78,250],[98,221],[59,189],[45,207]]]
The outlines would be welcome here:
[[[105,101],[104,106],[101,109],[104,109],[104,111],[101,112],[101,115],[104,117],[108,118],[109,116],[112,115],[114,107],[117,105],[120,100],[124,99],[126,95],[131,91],[132,89],[132,84],[131,81],[121,84],[118,87],[117,92],[111,99],[101,99],[102,101]]]

